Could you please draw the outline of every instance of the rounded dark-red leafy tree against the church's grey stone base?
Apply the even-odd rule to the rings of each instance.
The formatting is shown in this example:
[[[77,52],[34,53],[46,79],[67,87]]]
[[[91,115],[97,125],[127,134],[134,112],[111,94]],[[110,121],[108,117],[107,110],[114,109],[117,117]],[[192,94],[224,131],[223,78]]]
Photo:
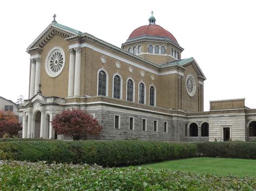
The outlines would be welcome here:
[[[102,126],[86,111],[80,109],[65,110],[52,119],[52,128],[58,135],[66,135],[79,140],[86,135],[97,137],[102,131]]]

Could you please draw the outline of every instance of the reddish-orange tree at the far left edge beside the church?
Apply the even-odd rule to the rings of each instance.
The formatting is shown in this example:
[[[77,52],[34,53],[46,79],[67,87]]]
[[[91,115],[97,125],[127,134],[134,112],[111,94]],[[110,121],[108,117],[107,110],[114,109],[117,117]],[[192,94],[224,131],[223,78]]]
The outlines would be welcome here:
[[[19,137],[19,131],[22,130],[20,123],[13,112],[0,111],[0,133],[6,133],[9,137]]]

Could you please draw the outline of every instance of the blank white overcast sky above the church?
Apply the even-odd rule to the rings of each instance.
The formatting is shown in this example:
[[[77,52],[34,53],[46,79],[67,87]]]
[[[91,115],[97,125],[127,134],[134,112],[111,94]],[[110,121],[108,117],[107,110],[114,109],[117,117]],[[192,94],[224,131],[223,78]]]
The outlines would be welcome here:
[[[196,59],[210,100],[246,98],[256,108],[256,1],[1,1],[0,96],[28,98],[30,55],[26,48],[57,15],[58,23],[121,47],[137,27],[156,24],[176,37],[181,58]]]

